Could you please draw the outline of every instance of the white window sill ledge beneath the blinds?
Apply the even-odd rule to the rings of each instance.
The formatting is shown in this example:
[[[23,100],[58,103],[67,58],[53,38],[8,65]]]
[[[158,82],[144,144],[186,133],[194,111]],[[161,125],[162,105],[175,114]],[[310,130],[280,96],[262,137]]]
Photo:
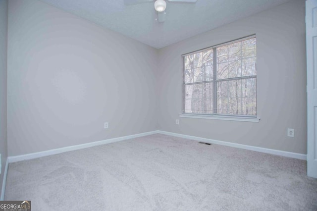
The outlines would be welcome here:
[[[225,115],[209,115],[209,114],[190,114],[190,113],[180,113],[179,117],[183,118],[198,118],[198,119],[217,119],[217,120],[228,120],[228,121],[243,121],[243,122],[259,122],[258,117],[248,117],[248,116],[225,116]]]

